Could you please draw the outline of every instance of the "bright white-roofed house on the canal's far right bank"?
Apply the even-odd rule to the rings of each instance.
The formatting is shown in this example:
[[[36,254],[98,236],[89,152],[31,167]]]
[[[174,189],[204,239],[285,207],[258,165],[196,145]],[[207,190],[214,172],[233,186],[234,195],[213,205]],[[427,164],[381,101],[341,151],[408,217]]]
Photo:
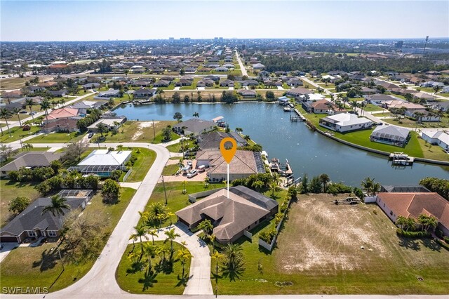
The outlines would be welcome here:
[[[340,113],[320,119],[319,124],[332,131],[345,133],[371,128],[373,121],[365,117],[357,117],[356,114]]]

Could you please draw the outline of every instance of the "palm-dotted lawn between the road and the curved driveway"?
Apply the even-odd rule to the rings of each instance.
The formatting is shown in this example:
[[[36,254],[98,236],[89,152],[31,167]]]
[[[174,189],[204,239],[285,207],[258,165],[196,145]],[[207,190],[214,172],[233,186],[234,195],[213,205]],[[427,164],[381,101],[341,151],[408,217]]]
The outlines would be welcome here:
[[[145,243],[152,243],[151,241]],[[155,241],[154,246],[165,246],[170,248],[170,242],[164,243],[163,241]],[[145,286],[144,282],[139,282],[140,279],[145,280],[145,271],[147,270],[147,257],[144,255],[142,262],[145,261],[144,270],[134,270],[133,261],[128,258],[128,253],[133,251],[133,245],[130,244],[126,247],[126,251],[123,253],[119,267],[116,271],[116,280],[120,288],[128,293],[145,293],[145,294],[161,294],[161,295],[182,295],[186,286],[187,277],[189,277],[190,260],[185,264],[184,281],[182,280],[182,265],[179,259],[176,259],[176,253],[184,246],[173,243],[174,258],[173,263],[166,262],[166,266],[163,267],[161,258],[156,255],[152,258],[152,265],[154,274],[151,279],[147,281],[148,286]],[[187,248],[186,248],[187,249]],[[135,252],[140,253],[140,244],[135,244]],[[136,261],[135,265],[138,265]]]

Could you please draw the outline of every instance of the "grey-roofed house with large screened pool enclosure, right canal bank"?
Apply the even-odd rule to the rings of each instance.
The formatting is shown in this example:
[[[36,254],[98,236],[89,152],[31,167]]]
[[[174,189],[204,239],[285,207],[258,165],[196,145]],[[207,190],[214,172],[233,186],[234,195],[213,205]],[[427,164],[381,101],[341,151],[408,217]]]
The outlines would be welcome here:
[[[410,130],[399,126],[377,126],[370,135],[370,140],[405,147],[410,140]]]

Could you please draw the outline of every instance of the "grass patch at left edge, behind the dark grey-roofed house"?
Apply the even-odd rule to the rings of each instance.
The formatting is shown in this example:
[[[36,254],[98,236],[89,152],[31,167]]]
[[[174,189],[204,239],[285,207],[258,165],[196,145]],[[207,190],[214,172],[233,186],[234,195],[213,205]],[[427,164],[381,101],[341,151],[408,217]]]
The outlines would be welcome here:
[[[8,211],[9,202],[15,197],[27,197],[31,201],[39,197],[39,192],[34,190],[35,182],[12,182],[0,180],[0,227],[4,227],[13,218],[13,213]]]

